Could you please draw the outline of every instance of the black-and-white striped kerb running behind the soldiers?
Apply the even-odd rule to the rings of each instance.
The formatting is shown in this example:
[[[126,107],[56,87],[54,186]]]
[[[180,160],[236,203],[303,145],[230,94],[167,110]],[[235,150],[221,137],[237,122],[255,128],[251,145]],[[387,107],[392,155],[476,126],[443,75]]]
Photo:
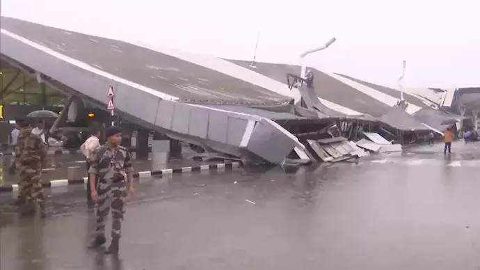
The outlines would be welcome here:
[[[211,165],[198,165],[198,166],[189,166],[189,167],[182,167],[182,168],[168,168],[159,171],[143,171],[134,173],[135,178],[145,178],[145,177],[152,177],[152,176],[161,176],[161,175],[173,175],[173,174],[180,174],[180,173],[191,173],[191,172],[201,172],[201,171],[208,171],[208,170],[218,170],[218,169],[229,169],[233,170],[236,168],[240,168],[243,164],[241,162],[232,162],[232,163],[219,163],[219,164],[211,164]],[[87,182],[87,177],[83,177],[82,179],[58,179],[58,180],[51,180],[50,182],[43,183],[42,186],[44,188],[48,187],[57,187],[57,186],[70,186],[72,184],[85,184]],[[0,186],[0,193],[3,192],[14,192],[18,191],[17,184],[9,184]]]

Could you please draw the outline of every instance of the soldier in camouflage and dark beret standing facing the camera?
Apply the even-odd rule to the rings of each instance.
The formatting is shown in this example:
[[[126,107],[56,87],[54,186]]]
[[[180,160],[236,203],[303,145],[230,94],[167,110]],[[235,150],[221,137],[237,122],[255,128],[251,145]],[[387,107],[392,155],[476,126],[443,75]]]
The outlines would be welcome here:
[[[89,248],[97,248],[105,242],[105,221],[110,209],[112,212],[112,241],[106,253],[118,253],[118,241],[121,235],[122,221],[125,214],[125,197],[127,188],[134,192],[132,182],[133,168],[130,152],[120,146],[121,129],[109,127],[105,131],[106,145],[102,145],[90,160],[91,197],[97,206],[97,225],[95,239]],[[95,186],[95,177],[98,177]]]

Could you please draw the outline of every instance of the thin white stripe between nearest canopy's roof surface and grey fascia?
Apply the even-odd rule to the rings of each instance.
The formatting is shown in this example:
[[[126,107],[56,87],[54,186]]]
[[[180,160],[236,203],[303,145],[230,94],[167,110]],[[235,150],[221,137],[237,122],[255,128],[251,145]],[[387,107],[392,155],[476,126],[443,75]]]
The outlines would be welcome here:
[[[92,67],[91,65],[88,65],[87,63],[83,63],[81,61],[78,61],[77,59],[74,59],[74,58],[71,58],[71,57],[68,57],[68,56],[65,56],[63,54],[60,54],[56,51],[54,51],[53,49],[49,49],[48,47],[45,47],[45,46],[42,46],[42,45],[39,45],[38,43],[35,43],[29,39],[26,39],[26,38],[23,38],[19,35],[16,35],[14,33],[11,33],[10,31],[6,31],[5,29],[1,29],[0,30],[1,33],[5,34],[5,35],[8,35],[10,36],[10,38],[14,38],[15,40],[19,40],[20,42],[23,42],[25,43],[26,45],[29,45],[35,49],[39,49],[40,51],[43,51],[47,54],[50,54],[51,56],[54,56],[58,59],[61,59],[62,61],[65,61],[67,63],[70,63],[72,65],[76,65],[77,67],[80,67],[81,69],[83,70],[88,70],[89,72],[93,72],[95,74],[98,74],[102,77],[106,77],[108,79],[111,79],[113,81],[118,81],[120,84],[125,84],[127,86],[131,86],[133,88],[137,88],[137,89],[140,89],[140,90],[143,90],[144,92],[147,92],[151,95],[155,95],[157,97],[160,97],[162,98],[163,100],[178,100],[178,97],[174,97],[172,95],[168,95],[166,93],[161,93],[159,92],[158,90],[154,90],[152,88],[148,88],[146,86],[142,86],[140,84],[136,84],[134,83],[133,81],[127,81],[126,79],[122,79],[120,77],[116,77],[115,75],[113,74],[110,74],[110,73],[107,73],[107,72],[104,72],[103,70],[99,70],[95,67]]]

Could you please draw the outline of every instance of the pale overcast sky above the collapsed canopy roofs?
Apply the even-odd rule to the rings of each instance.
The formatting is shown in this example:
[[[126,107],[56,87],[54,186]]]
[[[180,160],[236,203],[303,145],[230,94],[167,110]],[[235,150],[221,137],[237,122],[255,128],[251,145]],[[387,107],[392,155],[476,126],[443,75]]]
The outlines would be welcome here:
[[[1,13],[223,58],[298,63],[397,86],[480,86],[479,0],[1,0]]]

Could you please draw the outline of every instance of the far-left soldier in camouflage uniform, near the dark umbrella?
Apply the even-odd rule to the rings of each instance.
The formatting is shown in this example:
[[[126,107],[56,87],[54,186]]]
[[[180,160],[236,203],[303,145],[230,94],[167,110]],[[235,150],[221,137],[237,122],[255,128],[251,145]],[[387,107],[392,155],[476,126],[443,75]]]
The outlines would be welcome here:
[[[15,166],[19,170],[18,199],[22,214],[34,214],[38,202],[42,217],[45,217],[45,196],[42,188],[42,164],[47,150],[40,136],[32,133],[28,123],[20,122],[20,135],[15,150]]]

